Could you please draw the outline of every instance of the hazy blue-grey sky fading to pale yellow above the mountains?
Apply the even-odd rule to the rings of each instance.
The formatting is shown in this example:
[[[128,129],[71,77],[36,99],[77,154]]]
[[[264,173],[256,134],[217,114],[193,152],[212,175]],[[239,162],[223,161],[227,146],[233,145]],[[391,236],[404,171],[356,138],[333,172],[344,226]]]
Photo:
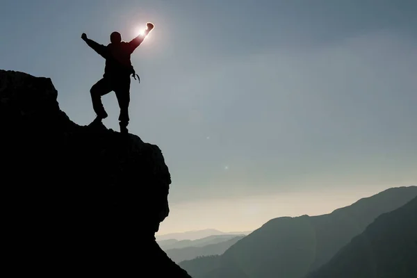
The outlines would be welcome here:
[[[2,0],[0,68],[50,77],[88,124],[104,59],[81,33],[108,44],[153,22],[129,131],[172,174],[159,234],[249,230],[417,184],[416,14],[412,0]]]

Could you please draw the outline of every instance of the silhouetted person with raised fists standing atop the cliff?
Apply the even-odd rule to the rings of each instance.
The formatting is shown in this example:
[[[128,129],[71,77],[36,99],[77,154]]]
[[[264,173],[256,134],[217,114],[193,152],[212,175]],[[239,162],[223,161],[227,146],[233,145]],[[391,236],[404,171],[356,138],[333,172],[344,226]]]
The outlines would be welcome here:
[[[90,40],[85,33],[81,35],[89,47],[106,59],[103,78],[92,85],[90,89],[92,108],[97,114],[96,120],[101,121],[108,116],[101,103],[101,96],[114,91],[120,107],[120,132],[123,133],[127,133],[127,125],[129,124],[130,77],[131,74],[133,77],[136,74],[130,58],[133,51],[154,28],[154,24],[150,22],[146,26],[145,32],[130,42],[123,42],[122,35],[118,32],[111,33],[111,43],[107,46]]]

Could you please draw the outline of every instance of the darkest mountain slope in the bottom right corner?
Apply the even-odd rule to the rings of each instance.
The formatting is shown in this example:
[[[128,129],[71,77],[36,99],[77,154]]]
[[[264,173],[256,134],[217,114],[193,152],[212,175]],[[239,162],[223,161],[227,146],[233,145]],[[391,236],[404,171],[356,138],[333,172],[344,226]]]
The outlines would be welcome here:
[[[380,215],[307,278],[417,277],[417,197]]]

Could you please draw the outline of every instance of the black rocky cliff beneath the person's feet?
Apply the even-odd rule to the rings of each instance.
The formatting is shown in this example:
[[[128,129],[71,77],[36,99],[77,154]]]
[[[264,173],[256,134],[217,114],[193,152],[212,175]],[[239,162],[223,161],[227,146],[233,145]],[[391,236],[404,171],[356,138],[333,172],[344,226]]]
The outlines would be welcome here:
[[[4,249],[15,273],[190,277],[156,244],[171,183],[161,149],[79,126],[51,79],[0,70]]]

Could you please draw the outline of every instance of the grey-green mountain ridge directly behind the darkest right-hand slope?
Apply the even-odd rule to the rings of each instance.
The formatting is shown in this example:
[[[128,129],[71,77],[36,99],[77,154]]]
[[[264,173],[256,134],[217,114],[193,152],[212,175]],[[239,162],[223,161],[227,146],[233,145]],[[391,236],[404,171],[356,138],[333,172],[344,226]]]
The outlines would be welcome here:
[[[390,188],[326,215],[275,218],[221,256],[179,265],[195,278],[302,278],[332,259],[379,215],[416,196],[417,186]]]

